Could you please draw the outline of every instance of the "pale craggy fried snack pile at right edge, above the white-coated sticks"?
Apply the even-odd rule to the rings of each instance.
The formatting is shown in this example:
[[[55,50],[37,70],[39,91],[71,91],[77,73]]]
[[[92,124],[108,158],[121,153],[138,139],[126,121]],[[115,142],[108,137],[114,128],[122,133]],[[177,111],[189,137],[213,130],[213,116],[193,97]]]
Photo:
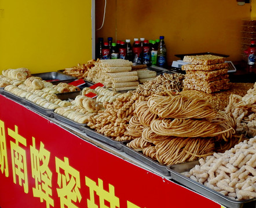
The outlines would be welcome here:
[[[232,113],[236,119],[237,133],[256,136],[256,83],[243,97],[232,94],[225,112]]]

